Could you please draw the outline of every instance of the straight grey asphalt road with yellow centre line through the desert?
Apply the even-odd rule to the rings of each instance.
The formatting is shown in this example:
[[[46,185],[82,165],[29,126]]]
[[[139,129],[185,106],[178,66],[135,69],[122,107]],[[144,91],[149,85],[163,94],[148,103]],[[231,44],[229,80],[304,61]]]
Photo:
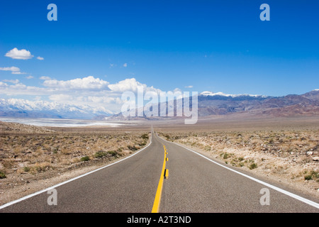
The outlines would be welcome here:
[[[159,187],[164,147],[169,175]],[[159,191],[158,211],[165,213],[319,212],[318,199],[249,177],[152,133],[152,143],[132,157],[55,187],[57,205],[47,204],[50,194],[45,191],[1,206],[0,212],[150,213]],[[262,189],[269,191],[261,194]]]

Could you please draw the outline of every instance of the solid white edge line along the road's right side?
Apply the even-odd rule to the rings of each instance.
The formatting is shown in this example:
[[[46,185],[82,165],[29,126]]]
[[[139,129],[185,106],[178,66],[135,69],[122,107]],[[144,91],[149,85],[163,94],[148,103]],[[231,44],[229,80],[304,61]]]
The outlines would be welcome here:
[[[158,136],[158,135],[157,135],[157,136]],[[160,137],[159,137],[159,138],[160,138]],[[161,139],[164,140],[163,138],[161,138]],[[164,141],[167,141],[167,140],[164,140]],[[167,141],[167,142],[169,142],[169,143],[174,143],[174,142],[171,142],[171,141]],[[177,143],[174,143],[174,144],[175,144],[175,145],[179,145],[179,144],[177,144]],[[267,187],[270,187],[270,188],[272,188],[272,189],[274,189],[274,190],[276,190],[276,191],[278,191],[278,192],[281,192],[281,193],[283,193],[283,194],[286,194],[287,196],[291,196],[291,197],[293,197],[294,199],[298,199],[299,201],[303,201],[304,203],[306,203],[306,204],[308,204],[308,205],[310,205],[310,206],[314,206],[315,208],[319,209],[319,204],[317,204],[315,201],[311,201],[311,200],[309,200],[309,199],[305,199],[305,198],[303,198],[303,197],[301,197],[301,196],[298,196],[298,195],[293,194],[293,193],[291,193],[291,192],[288,192],[288,191],[286,191],[286,190],[284,190],[284,189],[281,189],[281,188],[279,188],[279,187],[276,187],[276,186],[274,186],[274,185],[272,185],[272,184],[268,184],[268,183],[266,183],[266,182],[263,182],[263,181],[261,181],[261,180],[259,180],[259,179],[254,178],[254,177],[250,177],[250,176],[248,176],[248,175],[245,175],[245,174],[242,173],[242,172],[238,172],[238,171],[236,171],[236,170],[233,170],[233,169],[231,169],[230,167],[227,167],[227,166],[225,166],[225,165],[221,165],[220,163],[215,162],[215,161],[211,160],[210,158],[208,158],[208,157],[206,157],[206,156],[204,156],[204,155],[201,155],[200,153],[197,153],[197,152],[194,151],[194,150],[191,150],[191,149],[189,149],[189,148],[184,147],[184,145],[179,145],[179,146],[182,147],[182,148],[185,148],[185,149],[187,149],[187,150],[190,150],[191,152],[196,153],[197,155],[199,155],[199,156],[201,156],[201,157],[203,157],[203,158],[206,158],[206,160],[211,161],[211,162],[215,163],[216,165],[220,165],[221,167],[224,167],[224,168],[227,169],[227,170],[231,170],[231,171],[233,171],[233,172],[235,172],[235,173],[237,173],[237,174],[239,174],[239,175],[242,175],[242,176],[244,176],[244,177],[247,177],[247,178],[249,178],[249,179],[252,179],[252,180],[255,181],[255,182],[258,182],[259,184],[264,184],[264,185],[267,186]]]

